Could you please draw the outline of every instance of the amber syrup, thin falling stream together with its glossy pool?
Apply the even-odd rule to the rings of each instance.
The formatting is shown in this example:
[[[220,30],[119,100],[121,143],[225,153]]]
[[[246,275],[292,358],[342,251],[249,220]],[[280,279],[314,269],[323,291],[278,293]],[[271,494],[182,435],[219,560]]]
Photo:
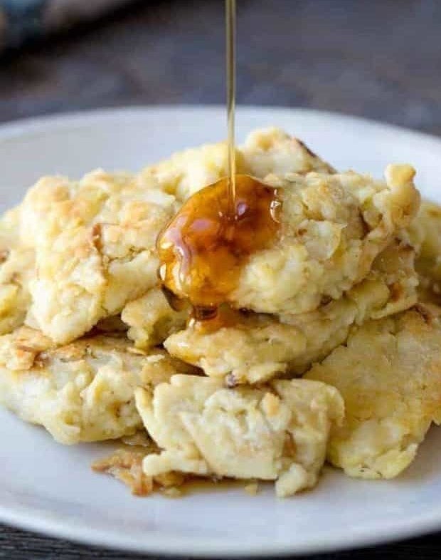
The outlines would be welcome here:
[[[235,4],[225,0],[228,177],[188,199],[157,242],[164,295],[176,310],[189,301],[191,326],[205,331],[242,320],[243,311],[228,305],[240,272],[279,229],[277,190],[236,175]]]

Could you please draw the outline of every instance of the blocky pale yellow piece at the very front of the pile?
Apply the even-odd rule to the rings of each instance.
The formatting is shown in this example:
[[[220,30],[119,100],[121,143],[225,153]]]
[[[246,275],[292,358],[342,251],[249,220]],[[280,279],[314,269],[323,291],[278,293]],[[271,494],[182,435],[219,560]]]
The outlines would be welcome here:
[[[221,380],[174,375],[153,393],[137,389],[136,403],[161,448],[145,457],[145,475],[275,480],[280,497],[314,487],[331,425],[344,415],[338,391],[305,380],[228,389]]]

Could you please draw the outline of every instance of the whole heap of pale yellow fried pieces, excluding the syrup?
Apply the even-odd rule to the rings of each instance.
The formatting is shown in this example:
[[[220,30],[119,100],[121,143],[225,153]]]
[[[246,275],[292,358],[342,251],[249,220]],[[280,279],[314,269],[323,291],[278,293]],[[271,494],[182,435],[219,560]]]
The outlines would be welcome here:
[[[441,209],[420,207],[409,165],[336,172],[275,128],[237,160],[280,192],[280,234],[230,297],[243,321],[214,331],[167,303],[155,242],[225,176],[224,143],[43,177],[4,215],[1,402],[64,444],[138,444],[95,464],[138,494],[197,476],[287,496],[326,459],[398,475],[441,420]]]

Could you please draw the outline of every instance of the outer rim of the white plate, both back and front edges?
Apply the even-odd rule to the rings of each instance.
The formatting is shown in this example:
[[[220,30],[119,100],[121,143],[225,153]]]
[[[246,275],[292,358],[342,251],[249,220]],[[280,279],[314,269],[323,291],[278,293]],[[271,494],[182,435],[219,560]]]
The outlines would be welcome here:
[[[41,115],[32,118],[21,118],[5,123],[0,123],[0,142],[20,139],[23,136],[41,135],[48,130],[63,130],[83,128],[93,123],[112,120],[130,120],[138,118],[140,114],[152,115],[154,113],[213,113],[219,115],[225,113],[224,105],[132,105],[117,108],[102,108],[92,110],[80,110],[68,113],[57,113],[55,115]],[[346,123],[354,125],[368,126],[371,130],[376,129],[379,133],[392,132],[406,135],[409,140],[418,142],[430,142],[441,147],[441,138],[436,135],[423,133],[418,130],[410,130],[398,125],[381,123],[376,120],[362,118],[355,115],[345,115],[331,111],[322,111],[309,108],[289,108],[284,106],[272,105],[239,105],[238,114],[253,113],[278,113],[279,115],[288,114],[291,118],[295,115],[311,115],[312,118],[324,118],[327,120],[344,120]],[[226,120],[226,118],[225,118]],[[0,522],[26,529],[34,532],[46,534],[51,537],[68,539],[81,544],[102,546],[107,549],[119,549],[144,554],[174,554],[178,556],[192,555],[205,557],[226,557],[226,556],[297,556],[299,554],[317,554],[326,551],[336,551],[353,549],[359,546],[378,545],[398,539],[422,536],[441,529],[441,505],[430,512],[420,512],[411,517],[400,518],[400,522],[390,522],[381,529],[376,527],[375,532],[368,534],[366,527],[353,528],[342,538],[342,533],[322,534],[319,539],[312,541],[304,540],[294,544],[289,543],[253,543],[245,539],[240,541],[230,541],[211,537],[197,540],[189,536],[175,536],[173,540],[165,540],[161,534],[149,534],[147,539],[139,533],[124,534],[106,532],[100,527],[90,527],[85,522],[62,517],[53,519],[42,515],[40,509],[32,506],[17,506],[7,501],[0,503]],[[165,546],[164,546],[165,545]]]

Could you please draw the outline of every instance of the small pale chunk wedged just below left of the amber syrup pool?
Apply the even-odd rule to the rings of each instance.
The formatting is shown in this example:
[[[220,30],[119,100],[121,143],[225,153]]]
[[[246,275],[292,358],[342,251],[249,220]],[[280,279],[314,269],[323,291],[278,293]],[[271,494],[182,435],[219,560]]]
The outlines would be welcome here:
[[[131,301],[122,310],[121,318],[129,327],[127,336],[137,348],[161,344],[186,326],[189,309],[174,311],[159,288]]]

